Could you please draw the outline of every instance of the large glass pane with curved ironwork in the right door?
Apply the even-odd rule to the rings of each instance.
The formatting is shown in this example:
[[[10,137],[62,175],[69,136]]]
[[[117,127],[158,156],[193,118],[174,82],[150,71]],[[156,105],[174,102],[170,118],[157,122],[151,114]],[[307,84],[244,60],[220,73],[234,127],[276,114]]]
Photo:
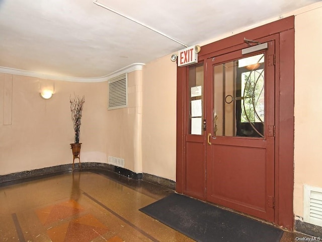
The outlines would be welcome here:
[[[264,138],[264,53],[213,67],[214,136]]]

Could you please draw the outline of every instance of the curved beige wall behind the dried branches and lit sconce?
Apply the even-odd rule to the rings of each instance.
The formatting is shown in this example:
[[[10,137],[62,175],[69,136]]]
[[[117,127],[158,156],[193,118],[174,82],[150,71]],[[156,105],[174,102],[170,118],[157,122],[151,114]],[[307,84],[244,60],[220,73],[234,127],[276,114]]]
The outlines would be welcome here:
[[[49,100],[40,81],[54,83]],[[128,74],[128,108],[107,110],[108,82],[77,83],[0,73],[0,175],[72,162],[70,94],[85,96],[80,141],[82,162],[123,158],[142,172],[142,71]],[[78,160],[76,159],[76,162]]]

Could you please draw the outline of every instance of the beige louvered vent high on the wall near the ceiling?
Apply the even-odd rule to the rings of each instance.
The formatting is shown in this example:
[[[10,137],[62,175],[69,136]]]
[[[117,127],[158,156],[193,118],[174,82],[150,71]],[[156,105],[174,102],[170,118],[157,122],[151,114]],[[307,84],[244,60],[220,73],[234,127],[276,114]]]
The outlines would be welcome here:
[[[108,109],[127,106],[127,75],[124,74],[109,81]]]

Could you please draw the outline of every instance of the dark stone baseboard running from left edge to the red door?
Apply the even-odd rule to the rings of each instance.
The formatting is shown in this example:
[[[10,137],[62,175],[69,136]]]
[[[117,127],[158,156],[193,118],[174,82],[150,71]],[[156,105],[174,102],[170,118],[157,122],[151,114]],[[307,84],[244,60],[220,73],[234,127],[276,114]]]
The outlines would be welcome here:
[[[151,175],[147,173],[135,173],[131,170],[118,167],[107,163],[98,162],[84,162],[81,163],[82,170],[79,167],[79,163],[75,163],[75,171],[95,171],[97,173],[104,173],[106,171],[112,171],[120,175],[126,176],[135,180],[146,180],[150,183],[158,184],[160,186],[176,189],[176,182],[167,178]],[[65,174],[72,172],[72,164],[56,165],[51,167],[45,167],[34,170],[20,171],[6,175],[0,175],[0,187],[18,184],[34,179],[40,179],[50,177],[59,174]]]

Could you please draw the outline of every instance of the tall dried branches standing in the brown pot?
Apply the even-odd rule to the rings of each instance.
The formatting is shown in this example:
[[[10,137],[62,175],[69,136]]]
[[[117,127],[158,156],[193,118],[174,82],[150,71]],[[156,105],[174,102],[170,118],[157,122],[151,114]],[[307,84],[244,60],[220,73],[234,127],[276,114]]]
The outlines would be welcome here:
[[[74,94],[74,97],[70,95],[69,99],[70,99],[69,102],[70,102],[71,120],[73,123],[74,132],[75,132],[74,142],[75,144],[78,144],[79,130],[81,129],[81,119],[82,119],[83,105],[85,102],[85,96],[81,98]]]

